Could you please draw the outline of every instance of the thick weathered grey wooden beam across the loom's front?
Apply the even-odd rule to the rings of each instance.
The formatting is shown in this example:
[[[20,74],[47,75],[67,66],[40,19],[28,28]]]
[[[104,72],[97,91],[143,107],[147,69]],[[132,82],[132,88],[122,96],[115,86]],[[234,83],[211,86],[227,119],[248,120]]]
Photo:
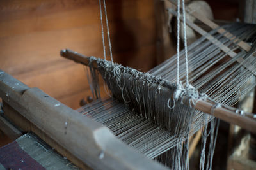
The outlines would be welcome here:
[[[29,88],[1,70],[0,97],[93,169],[166,169],[125,145],[104,125],[84,117],[36,87]]]

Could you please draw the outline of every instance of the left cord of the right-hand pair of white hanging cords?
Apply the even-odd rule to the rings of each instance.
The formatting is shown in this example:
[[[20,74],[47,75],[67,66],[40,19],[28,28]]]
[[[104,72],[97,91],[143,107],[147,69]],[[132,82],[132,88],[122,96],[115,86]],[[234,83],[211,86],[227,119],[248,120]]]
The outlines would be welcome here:
[[[179,69],[180,69],[180,0],[177,4],[177,84],[179,84]]]

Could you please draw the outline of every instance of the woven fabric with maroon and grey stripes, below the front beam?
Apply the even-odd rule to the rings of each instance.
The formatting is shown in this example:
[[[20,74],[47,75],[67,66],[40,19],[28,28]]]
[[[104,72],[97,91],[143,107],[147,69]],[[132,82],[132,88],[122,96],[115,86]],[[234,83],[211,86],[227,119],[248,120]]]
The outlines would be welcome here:
[[[2,169],[78,169],[33,134],[25,134],[0,148]]]

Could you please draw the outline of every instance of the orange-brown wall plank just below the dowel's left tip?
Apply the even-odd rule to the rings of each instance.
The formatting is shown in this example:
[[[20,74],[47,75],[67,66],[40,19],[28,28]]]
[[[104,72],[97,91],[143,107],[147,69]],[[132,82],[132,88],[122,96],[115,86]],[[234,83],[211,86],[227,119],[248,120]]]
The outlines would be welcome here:
[[[28,85],[34,85],[49,92],[49,95],[54,96],[56,99],[62,99],[63,97],[77,94],[83,90],[90,90],[86,73],[84,73],[82,66],[77,67],[72,65],[50,73],[42,73],[37,76],[28,76],[28,74],[25,74],[24,76],[18,77]]]

